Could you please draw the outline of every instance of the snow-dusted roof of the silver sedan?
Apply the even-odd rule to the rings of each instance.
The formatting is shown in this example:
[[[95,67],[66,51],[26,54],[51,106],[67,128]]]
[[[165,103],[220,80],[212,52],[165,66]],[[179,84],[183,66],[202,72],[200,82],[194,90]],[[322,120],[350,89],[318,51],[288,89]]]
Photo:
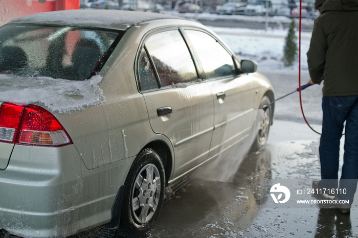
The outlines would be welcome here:
[[[183,19],[166,14],[121,10],[64,10],[42,12],[11,20],[9,23],[96,27],[126,30],[139,23],[159,19]]]

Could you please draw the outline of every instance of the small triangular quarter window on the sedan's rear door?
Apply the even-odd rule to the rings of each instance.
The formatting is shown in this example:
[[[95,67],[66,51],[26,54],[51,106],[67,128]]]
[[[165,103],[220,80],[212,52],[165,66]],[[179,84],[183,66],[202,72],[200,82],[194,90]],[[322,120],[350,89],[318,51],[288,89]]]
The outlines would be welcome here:
[[[147,52],[144,47],[139,56],[138,62],[138,71],[139,71],[139,82],[140,90],[147,91],[151,89],[159,88],[158,81],[156,80],[154,69],[150,63]]]

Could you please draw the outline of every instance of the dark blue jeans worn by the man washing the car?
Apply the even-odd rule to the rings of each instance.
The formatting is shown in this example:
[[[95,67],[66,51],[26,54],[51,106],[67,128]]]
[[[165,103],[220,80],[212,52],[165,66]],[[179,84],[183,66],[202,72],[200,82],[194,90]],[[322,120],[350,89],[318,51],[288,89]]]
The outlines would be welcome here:
[[[338,188],[340,139],[346,122],[342,176],[339,188],[347,194],[339,199],[353,202],[358,179],[358,96],[323,97],[320,142],[322,187]]]

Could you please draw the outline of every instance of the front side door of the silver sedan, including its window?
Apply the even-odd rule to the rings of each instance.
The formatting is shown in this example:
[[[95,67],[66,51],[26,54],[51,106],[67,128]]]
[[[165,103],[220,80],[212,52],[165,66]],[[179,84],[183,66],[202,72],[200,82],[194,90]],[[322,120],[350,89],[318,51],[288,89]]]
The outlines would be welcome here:
[[[214,97],[214,132],[210,157],[247,138],[254,122],[255,88],[239,75],[234,56],[213,35],[186,29]]]

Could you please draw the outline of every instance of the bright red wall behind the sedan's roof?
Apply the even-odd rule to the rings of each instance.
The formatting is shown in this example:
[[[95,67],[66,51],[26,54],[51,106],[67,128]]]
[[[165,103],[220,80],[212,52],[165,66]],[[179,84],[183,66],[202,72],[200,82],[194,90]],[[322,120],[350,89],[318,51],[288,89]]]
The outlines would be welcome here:
[[[38,12],[79,9],[79,6],[79,0],[0,0],[0,26],[16,17]]]

